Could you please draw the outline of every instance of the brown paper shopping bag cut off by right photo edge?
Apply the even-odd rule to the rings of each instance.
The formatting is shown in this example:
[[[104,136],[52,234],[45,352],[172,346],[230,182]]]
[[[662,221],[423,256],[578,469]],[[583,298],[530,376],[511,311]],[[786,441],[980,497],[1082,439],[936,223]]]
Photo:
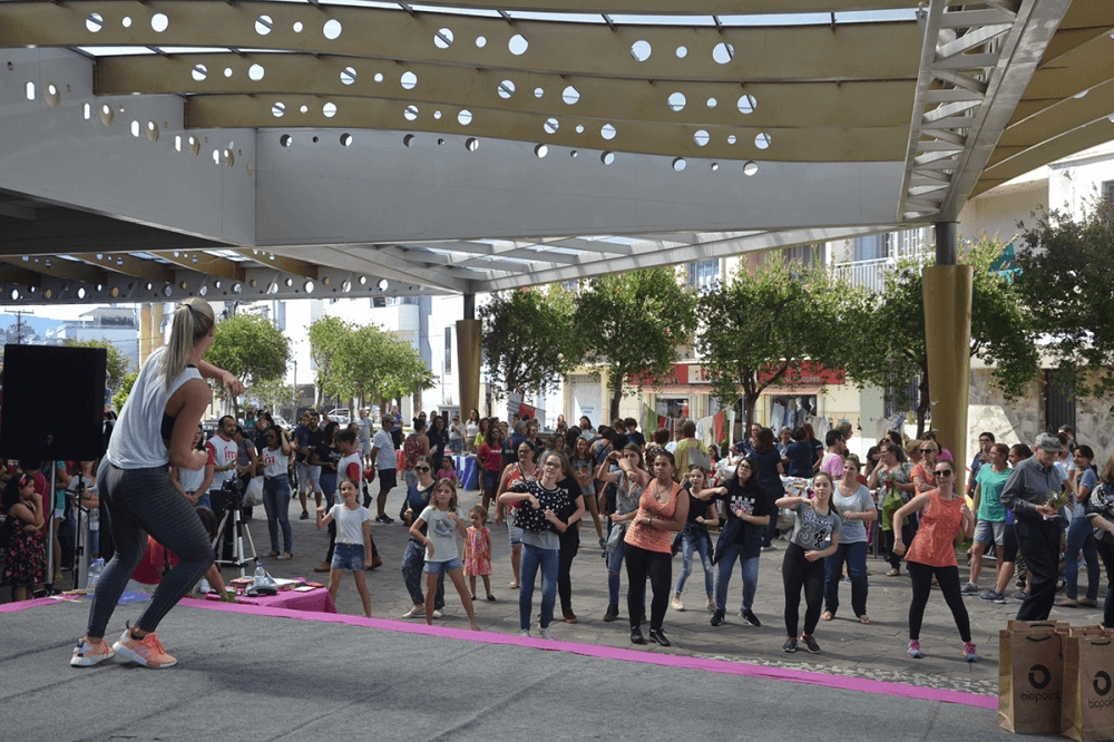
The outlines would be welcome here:
[[[1064,638],[1059,733],[1078,742],[1114,740],[1114,640],[1102,627]]]

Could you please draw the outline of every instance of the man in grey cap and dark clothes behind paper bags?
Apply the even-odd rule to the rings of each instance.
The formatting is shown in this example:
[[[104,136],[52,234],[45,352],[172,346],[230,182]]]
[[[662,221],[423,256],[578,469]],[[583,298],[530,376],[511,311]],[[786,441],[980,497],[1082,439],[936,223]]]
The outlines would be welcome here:
[[[1056,436],[1040,433],[1034,449],[1030,458],[1014,467],[1000,494],[1001,504],[1015,515],[1014,534],[1029,569],[1029,595],[1017,612],[1018,621],[1048,618],[1059,576],[1059,514],[1049,500],[1064,488],[1054,466],[1064,446]]]

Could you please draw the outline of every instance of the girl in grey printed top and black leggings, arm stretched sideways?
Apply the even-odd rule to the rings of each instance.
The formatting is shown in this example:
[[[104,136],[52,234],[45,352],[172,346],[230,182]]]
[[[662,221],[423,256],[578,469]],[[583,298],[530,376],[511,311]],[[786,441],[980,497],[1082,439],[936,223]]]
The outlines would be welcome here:
[[[785,582],[785,628],[789,638],[782,645],[785,652],[797,652],[797,622],[801,609],[801,588],[804,588],[804,633],[801,641],[812,654],[820,654],[812,633],[820,621],[824,602],[824,559],[839,548],[840,517],[832,509],[831,499],[836,484],[831,475],[818,471],[812,480],[814,497],[780,497],[775,507],[797,512],[793,534],[785,547],[781,573]]]

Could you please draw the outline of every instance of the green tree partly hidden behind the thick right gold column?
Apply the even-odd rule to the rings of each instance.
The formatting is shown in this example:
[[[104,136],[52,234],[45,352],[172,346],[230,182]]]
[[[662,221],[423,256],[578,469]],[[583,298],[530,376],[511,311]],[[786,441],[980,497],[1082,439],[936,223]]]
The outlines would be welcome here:
[[[1038,364],[1025,302],[1008,277],[991,270],[1004,247],[984,235],[959,263],[974,266],[970,354],[994,369],[993,383],[1014,399],[1036,378]],[[887,273],[881,294],[844,307],[857,340],[847,358],[848,373],[858,382],[892,390],[899,408],[916,402],[918,436],[925,432],[930,404],[921,271],[932,264],[931,256],[901,261]],[[918,374],[917,396],[911,398],[905,390]]]

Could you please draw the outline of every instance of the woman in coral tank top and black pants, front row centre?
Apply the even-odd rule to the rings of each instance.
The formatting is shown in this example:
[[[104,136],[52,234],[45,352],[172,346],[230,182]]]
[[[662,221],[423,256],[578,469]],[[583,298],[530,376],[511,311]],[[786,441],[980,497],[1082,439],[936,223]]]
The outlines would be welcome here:
[[[676,470],[673,455],[662,451],[654,459],[654,478],[641,469],[633,469],[643,479],[638,512],[623,539],[627,563],[627,611],[631,614],[631,641],[645,644],[642,637],[642,614],[646,605],[646,577],[649,576],[654,599],[649,605],[649,638],[662,646],[670,646],[662,624],[670,605],[673,587],[673,533],[685,527],[688,519],[688,498],[677,497],[681,485],[673,480]]]

